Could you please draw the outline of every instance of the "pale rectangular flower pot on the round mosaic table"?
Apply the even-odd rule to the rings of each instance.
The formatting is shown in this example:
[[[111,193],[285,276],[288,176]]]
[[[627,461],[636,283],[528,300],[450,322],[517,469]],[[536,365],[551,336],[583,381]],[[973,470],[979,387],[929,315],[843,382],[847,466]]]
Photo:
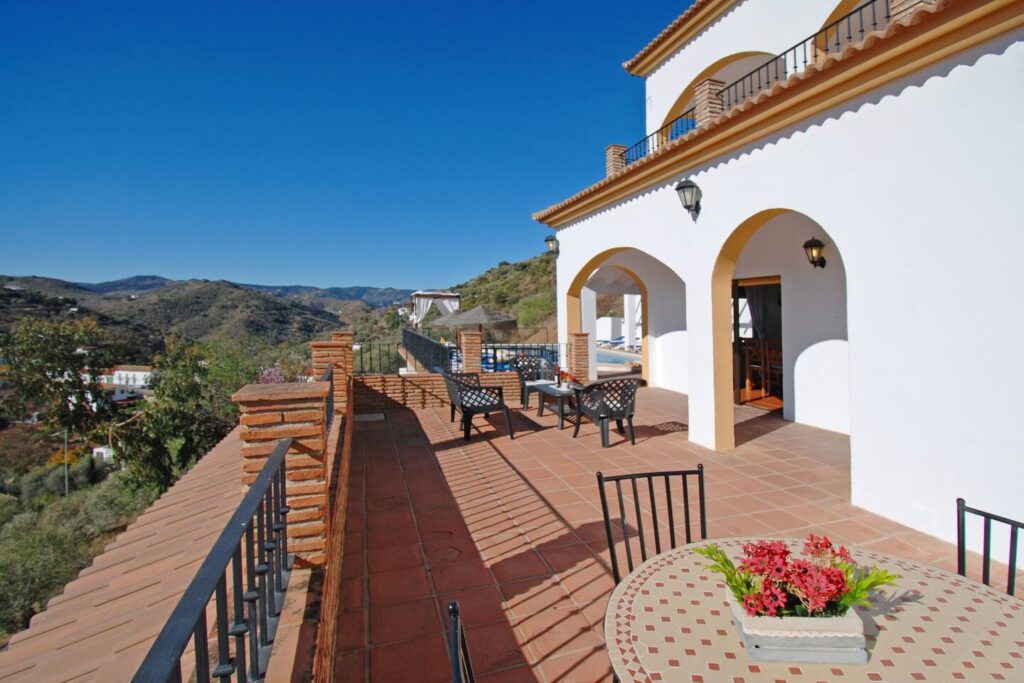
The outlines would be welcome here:
[[[726,593],[732,621],[755,661],[866,664],[864,622],[856,609],[843,616],[751,616]]]

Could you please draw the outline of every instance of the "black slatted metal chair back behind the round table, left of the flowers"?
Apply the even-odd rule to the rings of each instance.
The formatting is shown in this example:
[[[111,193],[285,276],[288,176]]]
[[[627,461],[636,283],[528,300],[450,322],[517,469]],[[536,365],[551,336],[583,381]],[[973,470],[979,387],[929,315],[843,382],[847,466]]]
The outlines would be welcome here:
[[[677,494],[673,494],[673,480],[678,477],[681,486],[676,486]],[[662,488],[664,488],[664,501],[665,501],[665,512],[668,516],[668,529],[666,539],[669,543],[667,550],[675,548],[677,544],[676,537],[676,520],[678,515],[676,514],[675,506],[678,506],[680,502],[682,503],[682,515],[683,515],[683,526],[684,533],[683,538],[686,543],[693,542],[693,529],[692,523],[692,513],[690,511],[690,479],[696,479],[697,484],[697,506],[699,517],[698,529],[700,531],[700,540],[708,538],[708,522],[705,515],[705,495],[703,495],[703,465],[697,465],[695,470],[677,470],[674,472],[642,472],[639,474],[620,474],[617,476],[606,477],[601,472],[597,473],[597,487],[601,493],[601,512],[604,514],[604,532],[608,538],[608,553],[611,555],[611,572],[615,578],[615,584],[617,585],[623,579],[622,571],[618,569],[618,554],[615,551],[615,539],[612,531],[612,520],[611,514],[608,510],[608,490],[606,484],[614,484],[614,495],[618,499],[618,527],[622,531],[622,539],[626,542],[626,562],[629,567],[629,571],[633,571],[635,565],[640,564],[648,557],[648,550],[650,548],[649,540],[651,536],[654,541],[653,553],[650,555],[656,555],[662,552],[662,532],[663,529],[658,523],[658,498],[662,497]],[[656,480],[656,485],[655,485]],[[637,482],[640,482],[638,485]],[[623,490],[623,482],[626,482],[627,488]],[[646,494],[646,496],[644,496]],[[675,501],[673,500],[675,496]],[[629,497],[631,501],[627,502],[626,497]],[[646,501],[643,499],[646,498]],[[645,503],[645,505],[642,505]],[[633,519],[630,519],[630,514],[628,509],[632,508]],[[644,523],[644,513],[649,514],[649,524]],[[636,529],[636,536],[631,538],[630,536],[630,522],[635,523],[634,528]],[[644,527],[649,526],[649,531],[645,532]],[[648,535],[649,533],[649,535]],[[639,560],[634,563],[633,561],[633,546],[639,541]]]

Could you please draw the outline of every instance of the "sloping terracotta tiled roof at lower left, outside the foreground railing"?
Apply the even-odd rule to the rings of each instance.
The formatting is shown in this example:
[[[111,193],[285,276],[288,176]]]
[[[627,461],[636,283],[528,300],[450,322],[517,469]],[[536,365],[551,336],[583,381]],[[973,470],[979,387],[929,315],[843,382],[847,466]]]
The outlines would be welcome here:
[[[128,681],[242,502],[239,429],[0,652],[0,681]]]

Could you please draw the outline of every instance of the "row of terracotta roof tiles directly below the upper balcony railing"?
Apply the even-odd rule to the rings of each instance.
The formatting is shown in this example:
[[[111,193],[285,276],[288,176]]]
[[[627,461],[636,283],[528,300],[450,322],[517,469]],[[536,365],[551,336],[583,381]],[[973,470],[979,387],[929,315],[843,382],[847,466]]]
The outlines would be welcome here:
[[[685,135],[682,135],[681,137],[678,137],[664,144],[663,146],[658,147],[655,152],[647,155],[646,157],[638,159],[637,161],[633,162],[622,171],[618,171],[617,173],[602,178],[601,180],[590,185],[589,187],[586,187],[585,189],[577,193],[567,200],[559,202],[558,204],[553,204],[547,209],[538,211],[532,215],[534,220],[540,221],[542,223],[545,222],[545,219],[549,218],[553,214],[557,213],[558,211],[564,209],[565,207],[571,204],[575,204],[580,200],[589,197],[590,195],[593,195],[594,193],[601,189],[605,185],[618,179],[624,174],[630,173],[631,171],[638,168],[643,168],[647,164],[652,163],[656,159],[660,159],[662,157],[673,152],[679,146],[687,144],[694,138],[699,137],[701,135],[707,135],[709,131],[714,130],[715,128],[719,127],[720,125],[729,121],[730,119],[743,116],[746,112],[756,108],[761,102],[771,99],[772,97],[778,95],[779,93],[790,88],[797,87],[801,83],[817,77],[818,74],[829,70],[837,63],[855,57],[862,52],[869,51],[872,47],[874,47],[874,45],[885,42],[887,39],[906,30],[908,27],[912,27],[923,22],[931,19],[931,17],[934,14],[944,11],[955,0],[946,0],[945,2],[939,3],[935,6],[919,5],[916,9],[906,14],[902,18],[890,23],[885,29],[881,31],[870,32],[864,36],[863,40],[856,43],[848,44],[841,52],[835,52],[828,54],[825,56],[825,58],[823,58],[822,60],[820,60],[815,65],[808,65],[805,71],[793,74],[792,76],[790,76],[788,79],[784,81],[779,81],[771,88],[762,90],[757,95],[733,106],[730,111],[725,112],[717,119],[707,123],[703,126],[691,130],[690,132],[686,133]],[[694,4],[694,6],[696,6],[696,3]]]

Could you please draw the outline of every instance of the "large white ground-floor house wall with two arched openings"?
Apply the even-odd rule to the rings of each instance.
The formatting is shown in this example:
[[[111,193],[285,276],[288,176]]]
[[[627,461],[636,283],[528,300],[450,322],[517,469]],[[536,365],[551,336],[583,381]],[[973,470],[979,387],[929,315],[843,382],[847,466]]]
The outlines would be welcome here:
[[[849,341],[844,349],[840,336],[822,331],[829,338],[793,359],[790,381],[806,379],[804,402],[813,404],[849,377],[853,502],[947,540],[957,496],[1024,518],[1022,371],[1012,360],[1024,318],[1005,305],[1018,289],[1013,258],[1024,253],[1022,75],[1019,32],[702,168],[680,169],[670,182],[559,230],[562,338],[566,288],[583,264],[615,247],[655,255],[686,283],[686,341],[675,349],[686,356],[689,434],[714,446],[715,260],[751,216],[774,208],[802,212],[827,231],[818,237],[830,244],[829,265],[815,271],[804,261],[801,271],[801,245],[810,234],[779,234],[794,240],[781,247],[795,259],[783,282],[796,287],[794,278],[833,276],[841,255]],[[673,189],[683,177],[703,190],[696,219]],[[808,296],[817,296],[814,289]],[[822,292],[831,298],[835,283]],[[786,286],[783,307],[799,309],[798,296]],[[658,309],[651,304],[653,325]],[[818,394],[810,388],[815,377]],[[842,428],[841,407],[810,405],[805,414],[799,386],[797,392],[795,419]]]

